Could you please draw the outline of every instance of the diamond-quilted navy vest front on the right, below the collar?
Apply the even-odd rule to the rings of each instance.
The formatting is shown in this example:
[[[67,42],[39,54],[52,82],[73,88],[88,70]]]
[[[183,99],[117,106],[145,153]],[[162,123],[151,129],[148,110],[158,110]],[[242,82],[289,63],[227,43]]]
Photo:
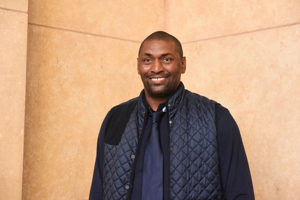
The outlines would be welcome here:
[[[170,198],[223,199],[218,167],[215,102],[185,90],[170,110]]]

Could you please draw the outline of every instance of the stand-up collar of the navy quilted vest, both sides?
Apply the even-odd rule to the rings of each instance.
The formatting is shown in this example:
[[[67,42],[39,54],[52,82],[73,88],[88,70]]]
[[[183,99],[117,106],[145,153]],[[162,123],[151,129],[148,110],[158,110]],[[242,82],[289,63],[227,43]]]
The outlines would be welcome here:
[[[175,109],[178,106],[178,104],[182,102],[184,98],[184,93],[185,93],[184,85],[182,82],[180,82],[176,90],[172,94],[170,94],[170,96],[166,100],[166,107],[168,108],[167,110],[169,110],[169,112]],[[142,90],[140,93],[138,107],[139,107],[139,111],[138,111],[139,115],[144,118],[146,108],[147,108],[147,101],[145,98],[144,90]]]

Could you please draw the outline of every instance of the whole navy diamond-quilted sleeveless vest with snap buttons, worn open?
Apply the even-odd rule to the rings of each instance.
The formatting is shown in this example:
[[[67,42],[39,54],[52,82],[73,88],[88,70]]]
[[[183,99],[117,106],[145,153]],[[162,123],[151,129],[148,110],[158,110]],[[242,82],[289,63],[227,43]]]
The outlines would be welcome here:
[[[104,199],[130,199],[139,138],[146,124],[141,92],[113,107],[105,128]],[[223,199],[213,100],[180,83],[166,101],[170,134],[170,199]]]

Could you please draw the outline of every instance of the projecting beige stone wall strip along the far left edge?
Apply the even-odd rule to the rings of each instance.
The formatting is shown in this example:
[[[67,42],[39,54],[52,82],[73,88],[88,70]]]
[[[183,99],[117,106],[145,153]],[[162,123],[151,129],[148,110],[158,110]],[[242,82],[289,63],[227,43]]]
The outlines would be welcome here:
[[[21,199],[28,1],[0,1],[0,199]]]

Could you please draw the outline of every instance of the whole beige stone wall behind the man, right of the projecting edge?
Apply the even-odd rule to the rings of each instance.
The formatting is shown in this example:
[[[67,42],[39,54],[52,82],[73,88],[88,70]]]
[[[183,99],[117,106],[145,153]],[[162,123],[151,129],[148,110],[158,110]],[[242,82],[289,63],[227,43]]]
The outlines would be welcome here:
[[[30,0],[22,199],[88,199],[102,120],[140,93],[138,48],[157,30],[182,42],[186,88],[237,121],[256,199],[297,199],[299,4]]]

